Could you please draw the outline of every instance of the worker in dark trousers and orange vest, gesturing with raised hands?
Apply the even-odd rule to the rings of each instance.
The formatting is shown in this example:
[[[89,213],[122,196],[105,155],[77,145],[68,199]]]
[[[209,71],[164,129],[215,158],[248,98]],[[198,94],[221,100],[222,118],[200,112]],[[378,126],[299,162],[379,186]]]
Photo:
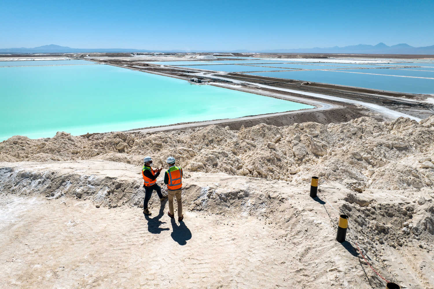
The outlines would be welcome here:
[[[158,197],[160,197],[161,202],[167,199],[167,196],[161,194],[161,187],[157,184],[157,177],[160,175],[162,167],[156,169],[152,168],[152,158],[147,156],[143,159],[145,165],[141,169],[141,174],[143,176],[143,187],[145,188],[145,200],[143,201],[143,213],[147,216],[151,215],[148,210],[148,202],[151,199],[152,191],[157,191]]]

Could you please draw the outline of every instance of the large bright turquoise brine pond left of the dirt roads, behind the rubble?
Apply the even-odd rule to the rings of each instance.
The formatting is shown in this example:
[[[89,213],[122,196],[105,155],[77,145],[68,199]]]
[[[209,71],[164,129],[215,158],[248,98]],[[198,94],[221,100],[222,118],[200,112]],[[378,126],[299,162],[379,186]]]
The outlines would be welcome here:
[[[0,88],[0,141],[313,108],[103,64],[5,67]]]

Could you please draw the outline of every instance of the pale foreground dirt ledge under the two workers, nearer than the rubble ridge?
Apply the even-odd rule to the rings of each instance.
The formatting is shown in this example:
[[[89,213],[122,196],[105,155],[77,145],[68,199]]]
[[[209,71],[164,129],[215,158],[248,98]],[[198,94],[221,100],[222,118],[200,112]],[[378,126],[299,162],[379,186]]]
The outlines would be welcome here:
[[[131,287],[140,282],[141,287],[194,283],[301,289],[322,288],[316,286],[320,281],[330,288],[383,289],[385,283],[363,253],[388,280],[413,289],[433,288],[434,194],[426,187],[358,194],[328,181],[320,185],[319,198],[311,199],[309,180],[288,185],[186,172],[186,218],[178,226],[156,197],[150,202],[153,215],[140,217],[140,167],[132,164],[86,160],[0,167],[2,286],[120,282]],[[339,213],[350,217],[351,232],[342,246],[335,241]],[[173,241],[186,246],[178,248]],[[143,254],[167,270],[149,271]],[[125,276],[131,266],[145,276]],[[182,274],[175,277],[172,271]],[[263,283],[263,276],[273,285]]]

